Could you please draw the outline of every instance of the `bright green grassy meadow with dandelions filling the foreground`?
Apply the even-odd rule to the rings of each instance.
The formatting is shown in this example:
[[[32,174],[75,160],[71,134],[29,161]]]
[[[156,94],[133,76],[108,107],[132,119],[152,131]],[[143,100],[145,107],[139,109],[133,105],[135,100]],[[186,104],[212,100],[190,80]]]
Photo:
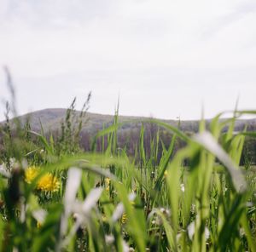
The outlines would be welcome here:
[[[256,251],[256,172],[240,167],[246,135],[234,117],[214,117],[199,133],[148,119],[159,131],[136,152],[118,146],[118,112],[90,152],[67,111],[59,138],[7,121],[0,157],[1,251]],[[81,114],[81,119],[83,114]],[[227,131],[223,131],[228,127]],[[173,152],[177,140],[186,145]],[[101,150],[96,151],[96,143]],[[149,153],[149,154],[148,154]],[[160,157],[160,158],[159,158]],[[249,160],[249,158],[248,158]]]

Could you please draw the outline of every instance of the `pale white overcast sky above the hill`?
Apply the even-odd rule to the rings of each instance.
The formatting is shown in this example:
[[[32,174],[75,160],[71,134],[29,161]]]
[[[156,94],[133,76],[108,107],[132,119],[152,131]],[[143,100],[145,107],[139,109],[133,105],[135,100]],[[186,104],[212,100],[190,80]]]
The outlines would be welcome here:
[[[79,110],[199,119],[255,109],[255,0],[1,0],[0,119],[8,66],[19,114]]]

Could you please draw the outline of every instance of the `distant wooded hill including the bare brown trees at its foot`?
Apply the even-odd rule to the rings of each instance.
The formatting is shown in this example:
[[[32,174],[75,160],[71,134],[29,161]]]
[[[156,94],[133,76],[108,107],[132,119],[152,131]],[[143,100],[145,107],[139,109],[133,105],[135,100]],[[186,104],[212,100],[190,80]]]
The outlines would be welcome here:
[[[41,125],[44,129],[44,134],[49,136],[49,132],[55,137],[61,135],[61,123],[65,122],[67,110],[61,108],[53,109],[44,109],[37,112],[28,113],[26,115],[18,117],[21,124],[25,125],[29,121],[31,129],[36,132],[41,131]],[[72,121],[73,125],[76,125],[75,122],[79,118],[79,111],[72,112]],[[123,123],[118,131],[118,146],[122,149],[125,148],[128,155],[133,155],[138,146],[138,141],[140,138],[140,129],[143,120],[147,120],[149,117],[125,117],[119,116],[119,123]],[[15,119],[12,119],[11,126],[15,126]],[[224,119],[222,119],[224,120]],[[165,123],[169,123],[172,126],[179,128],[186,133],[195,133],[199,128],[199,121],[181,121],[180,123],[177,120],[160,120]],[[211,120],[207,120],[207,127]],[[3,125],[4,122],[0,123]],[[84,149],[84,151],[91,150],[92,138],[100,131],[103,126],[107,128],[113,123],[113,115],[102,115],[96,113],[86,113],[84,117],[84,124],[80,132],[80,141],[79,145]],[[242,131],[247,127],[247,131],[256,131],[256,119],[243,119],[236,120],[235,130]],[[226,130],[225,128],[224,130]],[[156,134],[158,127],[153,123],[145,123],[145,134],[144,134],[144,147],[147,155],[150,155],[150,145],[152,136]],[[1,138],[1,135],[0,135]],[[107,142],[107,136],[105,138],[105,147]],[[165,146],[169,146],[172,134],[165,129],[160,130],[160,139]],[[0,139],[1,140],[1,139]],[[177,139],[174,147],[174,152],[182,148],[185,145],[183,140]],[[98,151],[102,150],[102,140],[97,140],[96,149]],[[1,147],[1,143],[0,143]],[[162,146],[160,145],[160,149]],[[159,156],[161,152],[159,152]],[[250,163],[256,164],[256,139],[253,137],[246,137],[243,153],[241,157],[241,163],[247,163],[249,160]]]

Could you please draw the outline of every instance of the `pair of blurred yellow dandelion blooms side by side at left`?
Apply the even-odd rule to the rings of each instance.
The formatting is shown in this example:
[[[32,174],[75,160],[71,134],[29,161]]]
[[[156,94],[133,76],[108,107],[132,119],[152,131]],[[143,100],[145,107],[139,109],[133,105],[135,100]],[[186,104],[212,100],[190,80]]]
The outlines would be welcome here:
[[[28,167],[25,171],[26,183],[31,184],[39,171],[40,169],[35,166]],[[37,189],[45,192],[56,192],[59,190],[60,185],[60,181],[54,175],[47,173],[38,180]]]

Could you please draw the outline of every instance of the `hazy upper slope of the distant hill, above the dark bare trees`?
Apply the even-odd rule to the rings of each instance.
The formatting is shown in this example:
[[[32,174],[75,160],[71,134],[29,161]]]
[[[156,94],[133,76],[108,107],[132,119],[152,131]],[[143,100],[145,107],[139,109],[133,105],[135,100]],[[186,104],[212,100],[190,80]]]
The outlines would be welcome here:
[[[26,123],[29,120],[31,124],[31,128],[34,131],[40,131],[41,124],[44,128],[44,132],[49,131],[58,131],[61,129],[61,122],[65,120],[66,117],[66,109],[62,108],[49,108],[40,110],[37,112],[27,113],[23,116],[20,116],[20,122],[22,124]],[[73,112],[73,120],[76,121],[76,118],[79,117],[79,111]],[[129,122],[125,123],[125,125],[120,130],[129,130],[138,128],[140,123],[139,121],[148,119],[148,117],[127,117],[127,116],[119,116],[119,122]],[[85,116],[85,121],[83,126],[83,131],[86,131],[90,135],[95,135],[96,132],[102,129],[102,126],[108,127],[113,122],[113,115],[102,115],[96,113],[87,112]],[[132,123],[132,121],[134,123]],[[173,126],[178,125],[177,120],[161,120],[162,122],[169,123]],[[207,120],[209,123],[210,120]],[[3,123],[3,122],[2,122]],[[196,132],[198,130],[199,121],[181,121],[180,129],[185,132]],[[242,119],[236,121],[235,129],[237,131],[244,129],[247,125],[248,131],[256,130],[256,119]]]

